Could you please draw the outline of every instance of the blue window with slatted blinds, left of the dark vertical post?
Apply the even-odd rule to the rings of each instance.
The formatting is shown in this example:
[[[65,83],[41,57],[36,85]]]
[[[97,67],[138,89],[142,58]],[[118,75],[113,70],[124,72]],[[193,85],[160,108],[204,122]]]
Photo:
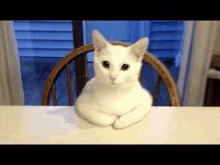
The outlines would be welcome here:
[[[44,83],[50,71],[73,50],[72,21],[14,21],[14,30],[25,105],[41,105]]]

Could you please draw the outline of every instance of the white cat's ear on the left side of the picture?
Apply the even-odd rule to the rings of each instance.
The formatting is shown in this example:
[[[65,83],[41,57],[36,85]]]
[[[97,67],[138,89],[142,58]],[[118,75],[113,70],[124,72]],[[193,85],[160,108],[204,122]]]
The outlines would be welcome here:
[[[97,30],[93,31],[92,39],[93,39],[94,48],[97,51],[105,49],[109,45],[108,41],[106,41],[104,36],[101,33],[99,33]]]

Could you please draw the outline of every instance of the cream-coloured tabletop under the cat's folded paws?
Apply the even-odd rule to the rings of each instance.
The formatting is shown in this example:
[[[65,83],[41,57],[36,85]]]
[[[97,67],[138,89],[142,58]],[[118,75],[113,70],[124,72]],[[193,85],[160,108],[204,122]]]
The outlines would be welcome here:
[[[1,144],[217,144],[219,107],[152,107],[125,129],[99,127],[69,106],[0,106]]]

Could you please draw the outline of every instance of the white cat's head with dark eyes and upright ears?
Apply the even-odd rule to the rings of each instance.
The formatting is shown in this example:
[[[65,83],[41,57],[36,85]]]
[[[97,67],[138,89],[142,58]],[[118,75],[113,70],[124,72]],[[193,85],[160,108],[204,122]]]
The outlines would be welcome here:
[[[132,85],[138,81],[148,38],[129,47],[112,45],[93,31],[95,77],[99,83],[112,87]]]

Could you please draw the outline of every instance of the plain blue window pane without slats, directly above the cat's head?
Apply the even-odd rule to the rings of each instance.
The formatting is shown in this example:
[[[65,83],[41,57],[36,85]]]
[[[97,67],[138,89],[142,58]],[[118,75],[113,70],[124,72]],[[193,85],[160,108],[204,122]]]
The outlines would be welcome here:
[[[149,21],[85,21],[86,43],[92,42],[92,31],[98,30],[108,41],[133,43],[149,36]]]

